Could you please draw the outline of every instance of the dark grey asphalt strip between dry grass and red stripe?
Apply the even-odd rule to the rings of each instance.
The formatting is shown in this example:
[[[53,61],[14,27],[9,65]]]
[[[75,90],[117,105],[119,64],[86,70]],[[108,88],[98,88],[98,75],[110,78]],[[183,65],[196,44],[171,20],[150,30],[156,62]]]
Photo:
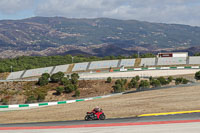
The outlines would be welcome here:
[[[166,116],[132,117],[117,118],[95,121],[59,121],[42,123],[20,123],[20,124],[0,124],[1,127],[40,127],[40,126],[70,126],[70,125],[88,125],[88,124],[111,124],[111,123],[138,123],[138,122],[158,122],[158,121],[178,121],[178,120],[200,120],[200,113],[178,114]]]

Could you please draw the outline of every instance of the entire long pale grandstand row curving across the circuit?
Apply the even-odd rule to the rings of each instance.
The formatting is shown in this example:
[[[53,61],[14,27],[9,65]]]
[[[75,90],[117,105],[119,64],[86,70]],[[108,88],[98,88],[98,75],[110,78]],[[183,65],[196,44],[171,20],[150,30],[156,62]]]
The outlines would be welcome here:
[[[83,62],[71,65],[59,65],[54,67],[37,68],[31,70],[24,70],[18,72],[12,72],[6,78],[7,80],[21,79],[29,77],[38,77],[43,73],[54,74],[57,72],[71,73],[71,72],[81,72],[87,70],[101,70],[109,68],[119,68],[119,67],[133,67],[136,63],[136,59],[121,59],[121,60],[104,60],[104,61],[93,61],[93,62]],[[139,63],[138,63],[139,64]],[[162,69],[168,69],[170,65],[200,65],[200,56],[192,57],[161,57],[161,58],[141,58],[141,62],[138,66],[164,66]],[[182,66],[183,67],[183,66]],[[70,68],[70,69],[69,69]],[[183,67],[184,68],[184,67]],[[199,68],[199,67],[198,67]],[[137,70],[134,68],[134,70]],[[141,70],[141,68],[138,68]],[[149,69],[150,70],[150,69]]]

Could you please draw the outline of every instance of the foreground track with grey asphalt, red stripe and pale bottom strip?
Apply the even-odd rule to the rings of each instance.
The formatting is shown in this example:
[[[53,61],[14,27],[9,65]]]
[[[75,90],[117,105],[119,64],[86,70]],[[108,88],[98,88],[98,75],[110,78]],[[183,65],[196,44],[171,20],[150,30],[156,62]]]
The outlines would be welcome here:
[[[200,113],[106,119],[103,121],[60,121],[0,124],[0,133],[199,133]]]

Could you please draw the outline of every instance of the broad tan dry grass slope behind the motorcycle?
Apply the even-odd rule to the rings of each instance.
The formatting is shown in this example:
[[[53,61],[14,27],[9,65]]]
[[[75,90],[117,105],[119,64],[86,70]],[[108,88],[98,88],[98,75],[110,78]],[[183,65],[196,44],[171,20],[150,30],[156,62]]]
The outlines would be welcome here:
[[[200,109],[200,86],[154,90],[31,110],[0,112],[0,123],[82,120],[96,105],[107,118]]]

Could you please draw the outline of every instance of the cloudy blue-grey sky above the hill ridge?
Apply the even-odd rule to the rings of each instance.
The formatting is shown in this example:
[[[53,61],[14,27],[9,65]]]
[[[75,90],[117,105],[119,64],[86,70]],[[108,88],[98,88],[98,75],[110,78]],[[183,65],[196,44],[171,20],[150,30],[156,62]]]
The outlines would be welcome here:
[[[200,26],[200,0],[0,0],[0,20],[108,17]]]

